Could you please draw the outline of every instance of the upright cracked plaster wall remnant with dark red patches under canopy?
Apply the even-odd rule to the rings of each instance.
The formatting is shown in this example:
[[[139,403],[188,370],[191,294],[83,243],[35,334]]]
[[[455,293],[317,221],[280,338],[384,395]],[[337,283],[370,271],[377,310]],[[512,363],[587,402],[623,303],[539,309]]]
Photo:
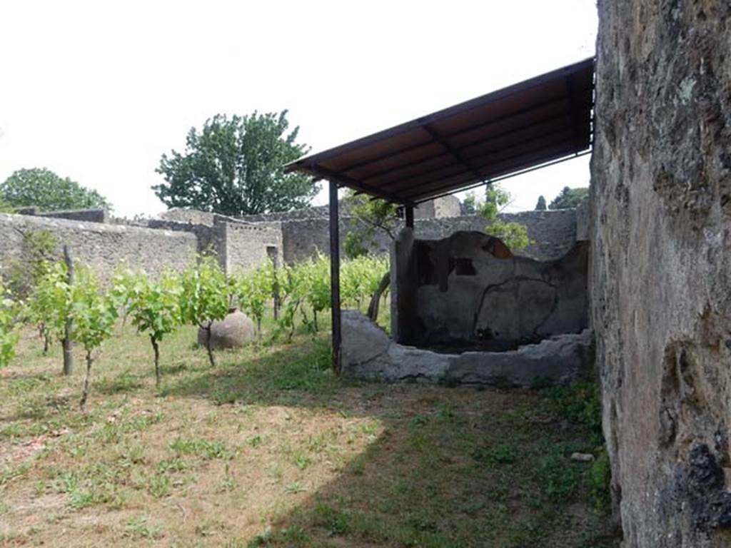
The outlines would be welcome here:
[[[587,327],[588,245],[550,262],[513,256],[497,238],[455,232],[395,243],[392,332],[400,343],[506,350]]]

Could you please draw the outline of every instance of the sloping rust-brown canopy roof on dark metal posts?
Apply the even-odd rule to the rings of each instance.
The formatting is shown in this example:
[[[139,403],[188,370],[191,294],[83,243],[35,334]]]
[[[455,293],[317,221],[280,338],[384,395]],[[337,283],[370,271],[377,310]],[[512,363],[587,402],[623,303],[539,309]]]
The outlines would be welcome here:
[[[548,72],[287,164],[415,204],[591,147],[594,59]]]

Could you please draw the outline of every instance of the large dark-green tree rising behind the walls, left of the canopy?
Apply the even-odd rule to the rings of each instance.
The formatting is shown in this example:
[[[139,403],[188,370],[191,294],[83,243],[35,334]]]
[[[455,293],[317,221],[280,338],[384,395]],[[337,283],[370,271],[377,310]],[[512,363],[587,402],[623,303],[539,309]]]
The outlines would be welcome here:
[[[218,114],[192,128],[183,153],[162,155],[153,186],[170,208],[194,208],[229,216],[305,208],[317,194],[312,178],[285,173],[284,164],[308,151],[298,129],[288,132],[287,111],[246,116]]]

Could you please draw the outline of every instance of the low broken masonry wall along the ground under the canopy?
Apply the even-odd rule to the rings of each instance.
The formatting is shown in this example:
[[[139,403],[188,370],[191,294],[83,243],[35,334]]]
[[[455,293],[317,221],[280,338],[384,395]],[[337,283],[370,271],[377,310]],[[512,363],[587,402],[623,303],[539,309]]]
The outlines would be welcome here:
[[[343,311],[343,373],[377,381],[529,387],[538,379],[574,381],[592,355],[589,330],[560,335],[512,352],[440,354],[403,346],[359,311]]]

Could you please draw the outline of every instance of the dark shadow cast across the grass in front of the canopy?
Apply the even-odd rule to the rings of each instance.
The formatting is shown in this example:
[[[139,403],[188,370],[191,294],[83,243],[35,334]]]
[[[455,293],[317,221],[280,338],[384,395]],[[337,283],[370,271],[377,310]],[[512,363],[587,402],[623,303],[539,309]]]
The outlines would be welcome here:
[[[365,384],[330,372],[330,346],[306,338],[251,359],[170,379],[162,395],[219,405],[328,408],[368,417],[368,449],[337,479],[230,547],[614,546],[610,520],[587,502],[594,447],[530,391]]]

